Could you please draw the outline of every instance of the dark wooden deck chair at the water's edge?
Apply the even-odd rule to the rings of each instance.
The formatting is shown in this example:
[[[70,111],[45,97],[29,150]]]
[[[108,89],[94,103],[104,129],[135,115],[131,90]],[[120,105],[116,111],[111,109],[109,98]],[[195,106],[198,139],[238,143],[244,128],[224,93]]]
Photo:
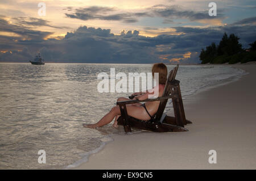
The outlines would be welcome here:
[[[177,65],[173,70],[169,72],[162,96],[155,99],[126,100],[117,102],[117,105],[119,106],[121,111],[121,116],[118,118],[117,122],[119,125],[123,125],[123,127],[125,128],[125,132],[131,132],[131,127],[154,132],[188,131],[188,129],[184,128],[184,125],[192,122],[186,120],[185,118],[185,112],[179,86],[180,81],[177,81],[175,79],[178,68],[179,65]],[[167,116],[165,113],[163,113],[168,99],[172,99],[174,116]],[[143,121],[127,115],[126,104],[159,100],[160,104],[158,107],[158,111],[156,112],[153,120]]]

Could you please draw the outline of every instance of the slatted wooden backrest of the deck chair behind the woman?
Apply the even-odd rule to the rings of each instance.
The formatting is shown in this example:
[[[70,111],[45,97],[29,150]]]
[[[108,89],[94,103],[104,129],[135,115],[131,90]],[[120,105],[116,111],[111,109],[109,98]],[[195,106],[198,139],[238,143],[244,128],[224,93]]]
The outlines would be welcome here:
[[[169,72],[167,80],[166,80],[166,86],[164,87],[164,91],[163,91],[162,96],[170,95],[170,93],[171,93],[170,82],[175,79],[178,68],[179,68],[179,64]],[[164,112],[164,108],[166,108],[167,101],[168,101],[168,99],[160,100],[160,104],[159,104],[159,107],[158,107],[158,111],[156,112],[155,120],[160,120],[161,119],[161,117],[163,115],[163,112]]]

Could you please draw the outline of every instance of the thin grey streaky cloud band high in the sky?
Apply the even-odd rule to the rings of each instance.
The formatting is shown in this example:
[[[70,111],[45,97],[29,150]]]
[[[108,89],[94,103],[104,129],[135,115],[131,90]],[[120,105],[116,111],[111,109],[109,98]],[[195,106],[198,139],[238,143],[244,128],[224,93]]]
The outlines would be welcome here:
[[[69,7],[68,11],[72,11]],[[116,8],[90,6],[81,9],[75,9],[73,12],[65,13],[68,18],[76,18],[81,20],[100,19],[100,20],[118,20],[125,23],[134,23],[141,17],[162,17],[162,18],[185,18],[191,21],[201,19],[223,19],[224,16],[218,13],[218,16],[209,16],[208,11],[192,11],[184,10],[180,6],[166,6],[155,5],[147,9],[141,10],[142,12],[122,12]],[[221,12],[219,10],[218,12]],[[109,14],[109,15],[106,15]],[[172,20],[165,19],[163,23],[172,23]]]

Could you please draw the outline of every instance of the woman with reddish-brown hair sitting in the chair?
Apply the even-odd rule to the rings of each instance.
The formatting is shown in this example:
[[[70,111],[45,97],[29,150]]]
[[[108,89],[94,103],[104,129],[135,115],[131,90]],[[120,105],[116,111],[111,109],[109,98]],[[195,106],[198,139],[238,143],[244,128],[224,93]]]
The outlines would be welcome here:
[[[138,100],[145,100],[148,99],[148,96],[150,94],[154,94],[154,91],[158,89],[159,96],[162,96],[164,91],[164,86],[166,84],[167,79],[167,67],[163,63],[154,64],[152,66],[152,75],[154,77],[154,73],[159,73],[159,85],[155,86],[152,90],[146,91],[146,92],[135,92],[133,95],[135,95],[134,99]],[[128,98],[118,98],[117,102],[123,101],[123,100],[130,100]],[[148,121],[152,117],[154,117],[155,113],[158,111],[160,101],[154,101],[154,102],[146,102],[144,104],[136,103],[136,104],[127,104],[126,109],[129,116],[135,117],[140,120]],[[103,125],[106,125],[110,123],[114,117],[115,121],[113,124],[113,127],[117,128],[117,119],[121,116],[121,112],[119,109],[119,106],[115,106],[112,108],[112,110],[107,113],[98,123],[95,124],[83,124],[85,128],[97,128],[102,127]]]

